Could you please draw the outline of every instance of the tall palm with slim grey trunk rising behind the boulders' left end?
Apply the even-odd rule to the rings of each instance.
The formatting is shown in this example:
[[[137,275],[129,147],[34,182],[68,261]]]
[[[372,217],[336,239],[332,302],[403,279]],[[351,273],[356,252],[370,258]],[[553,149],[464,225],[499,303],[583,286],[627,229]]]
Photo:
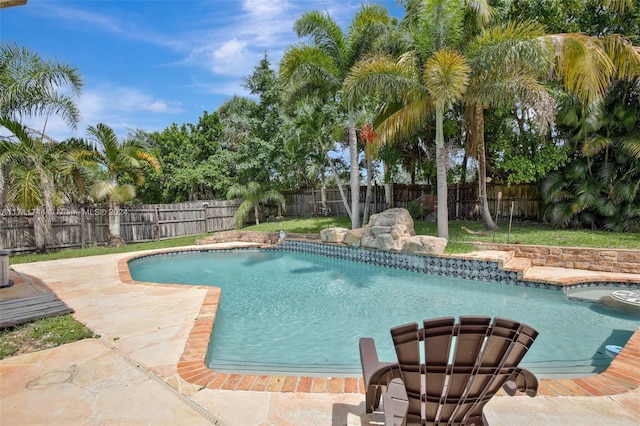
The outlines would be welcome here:
[[[387,10],[377,4],[366,4],[354,16],[347,32],[328,15],[306,12],[294,29],[298,37],[309,36],[310,44],[290,47],[280,64],[280,75],[293,98],[305,96],[321,100],[340,98],[342,83],[351,67],[376,47],[379,36],[391,22]],[[347,104],[347,133],[352,228],[360,226],[360,166],[354,104]]]

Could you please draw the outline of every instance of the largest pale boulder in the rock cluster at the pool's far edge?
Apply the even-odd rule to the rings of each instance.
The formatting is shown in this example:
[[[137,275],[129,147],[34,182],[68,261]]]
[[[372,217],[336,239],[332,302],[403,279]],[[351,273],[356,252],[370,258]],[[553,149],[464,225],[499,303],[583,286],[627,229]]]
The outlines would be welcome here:
[[[416,235],[413,218],[407,209],[394,208],[373,214],[364,227],[361,246],[400,251],[411,236]]]

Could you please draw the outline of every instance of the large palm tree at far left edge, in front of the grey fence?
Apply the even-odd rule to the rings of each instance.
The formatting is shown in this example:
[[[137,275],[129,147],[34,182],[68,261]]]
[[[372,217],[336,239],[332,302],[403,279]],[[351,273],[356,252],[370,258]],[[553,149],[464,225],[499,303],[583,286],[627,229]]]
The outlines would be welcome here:
[[[59,153],[46,136],[46,122],[56,115],[75,127],[80,113],[72,96],[78,95],[81,87],[76,68],[46,61],[13,43],[0,43],[0,125],[13,134],[0,137],[0,201],[6,199],[5,176],[11,167],[15,170],[11,173],[12,185],[20,187],[26,203],[23,205],[42,203],[39,206],[43,207],[43,214],[38,216],[40,226],[36,231],[36,247],[40,251],[52,239],[53,173],[57,168],[53,153]],[[26,117],[43,117],[45,124],[36,132],[21,124]],[[18,190],[14,188],[13,192],[15,195]]]

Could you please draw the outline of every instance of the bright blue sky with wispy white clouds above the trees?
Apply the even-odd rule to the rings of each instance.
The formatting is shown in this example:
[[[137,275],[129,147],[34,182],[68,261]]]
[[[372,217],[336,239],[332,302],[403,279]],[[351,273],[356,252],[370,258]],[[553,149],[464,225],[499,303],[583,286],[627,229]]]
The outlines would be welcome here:
[[[402,8],[380,0],[392,14]],[[78,68],[84,79],[77,130],[47,123],[62,140],[103,122],[162,130],[196,123],[242,87],[266,52],[274,68],[300,41],[294,21],[327,10],[346,28],[362,1],[351,0],[28,0],[0,10],[0,38]],[[38,120],[30,123],[42,125]]]

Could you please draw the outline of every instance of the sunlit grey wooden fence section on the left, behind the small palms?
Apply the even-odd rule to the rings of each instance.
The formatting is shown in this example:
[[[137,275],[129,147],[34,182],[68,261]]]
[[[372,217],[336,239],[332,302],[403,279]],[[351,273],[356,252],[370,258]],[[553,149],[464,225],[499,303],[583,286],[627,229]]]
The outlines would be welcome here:
[[[155,241],[235,228],[238,201],[202,200],[175,204],[122,206],[120,237],[127,243]],[[0,247],[12,252],[36,250],[38,210],[4,208],[0,215]],[[106,207],[65,206],[53,216],[53,241],[47,250],[90,247],[109,240]]]

